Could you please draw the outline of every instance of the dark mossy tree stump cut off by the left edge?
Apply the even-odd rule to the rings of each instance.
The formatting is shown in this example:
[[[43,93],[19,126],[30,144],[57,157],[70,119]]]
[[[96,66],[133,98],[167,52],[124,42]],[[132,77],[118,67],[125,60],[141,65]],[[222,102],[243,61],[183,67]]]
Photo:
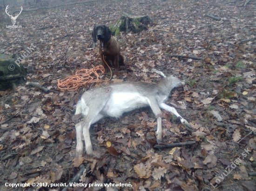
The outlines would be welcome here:
[[[0,91],[15,89],[23,82],[26,70],[15,61],[10,55],[0,54]]]

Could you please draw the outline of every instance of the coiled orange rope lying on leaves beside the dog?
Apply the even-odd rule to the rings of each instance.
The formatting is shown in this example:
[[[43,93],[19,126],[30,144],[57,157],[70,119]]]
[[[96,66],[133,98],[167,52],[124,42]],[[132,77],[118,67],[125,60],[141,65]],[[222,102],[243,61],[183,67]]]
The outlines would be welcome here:
[[[107,64],[105,61],[105,58],[103,56],[103,61]],[[108,66],[108,64],[107,64]],[[112,70],[108,66],[111,76],[108,80],[101,80],[100,74],[97,73],[97,71],[100,71],[101,74],[105,72],[103,66],[96,66],[93,69],[82,69],[75,72],[75,75],[66,77],[63,80],[58,80],[58,87],[62,90],[67,91],[76,91],[80,86],[88,83],[94,83],[94,82],[103,82],[103,81],[109,81],[112,78]],[[96,79],[94,79],[94,76],[96,76]]]

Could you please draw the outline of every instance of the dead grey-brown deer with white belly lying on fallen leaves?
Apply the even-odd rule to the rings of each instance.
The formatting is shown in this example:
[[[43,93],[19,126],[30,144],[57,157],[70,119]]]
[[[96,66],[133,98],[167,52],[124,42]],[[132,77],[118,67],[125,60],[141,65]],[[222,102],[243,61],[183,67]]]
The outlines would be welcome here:
[[[85,140],[87,154],[93,153],[90,140],[90,125],[99,121],[103,117],[120,117],[123,113],[134,109],[150,106],[157,118],[156,140],[162,141],[162,112],[165,109],[177,117],[181,117],[182,124],[190,132],[193,128],[188,121],[178,114],[175,108],[164,103],[168,95],[175,87],[185,85],[185,82],[175,76],[165,76],[161,71],[155,70],[163,77],[158,83],[143,82],[123,82],[111,83],[100,86],[83,93],[77,103],[75,115],[85,116],[84,121],[75,125],[77,145],[76,150],[79,155],[83,153],[82,135]]]

